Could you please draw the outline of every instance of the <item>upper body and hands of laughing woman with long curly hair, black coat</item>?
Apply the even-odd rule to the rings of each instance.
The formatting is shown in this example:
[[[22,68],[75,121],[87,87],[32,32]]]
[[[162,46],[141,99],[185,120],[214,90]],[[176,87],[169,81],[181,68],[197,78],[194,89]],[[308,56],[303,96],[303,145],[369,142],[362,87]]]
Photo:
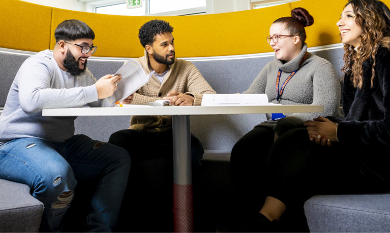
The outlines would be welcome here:
[[[390,146],[390,10],[378,0],[349,0],[337,26],[345,51],[345,120],[306,122],[309,139],[355,152],[354,162],[364,164],[370,178],[387,183],[390,158],[383,151]]]

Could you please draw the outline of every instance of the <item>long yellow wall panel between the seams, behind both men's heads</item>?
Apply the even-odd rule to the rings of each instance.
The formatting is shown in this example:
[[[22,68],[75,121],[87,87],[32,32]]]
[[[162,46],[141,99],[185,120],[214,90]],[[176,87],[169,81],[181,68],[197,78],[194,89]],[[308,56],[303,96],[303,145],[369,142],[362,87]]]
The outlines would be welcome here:
[[[95,32],[96,56],[139,57],[143,47],[138,30],[152,19],[163,19],[173,26],[177,57],[203,57],[251,54],[272,51],[266,43],[269,26],[290,14],[290,4],[241,12],[197,16],[114,16],[53,8],[51,43],[54,30],[66,19],[78,19]]]

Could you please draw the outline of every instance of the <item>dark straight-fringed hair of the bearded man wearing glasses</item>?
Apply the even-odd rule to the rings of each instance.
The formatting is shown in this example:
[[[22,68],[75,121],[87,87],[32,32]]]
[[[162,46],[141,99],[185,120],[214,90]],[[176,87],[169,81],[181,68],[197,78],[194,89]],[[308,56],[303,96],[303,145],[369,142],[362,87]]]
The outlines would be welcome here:
[[[88,38],[94,40],[95,33],[91,27],[86,25],[86,23],[77,19],[69,19],[58,24],[54,31],[54,38],[55,42],[61,40],[74,41],[79,38]]]

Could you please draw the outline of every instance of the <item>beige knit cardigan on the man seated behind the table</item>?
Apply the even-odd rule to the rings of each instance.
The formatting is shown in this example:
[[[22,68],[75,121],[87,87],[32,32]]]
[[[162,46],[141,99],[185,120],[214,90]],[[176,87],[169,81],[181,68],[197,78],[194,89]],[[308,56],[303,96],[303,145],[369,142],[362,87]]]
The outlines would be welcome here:
[[[148,56],[135,59],[141,64],[146,74],[152,72],[148,65]],[[189,61],[175,59],[164,76],[163,83],[152,75],[147,84],[134,93],[132,104],[147,104],[166,96],[170,91],[177,91],[195,97],[193,105],[200,105],[203,94],[216,94],[213,88],[203,78],[199,70]],[[163,132],[172,126],[172,118],[167,115],[134,116],[130,121],[130,129]]]

